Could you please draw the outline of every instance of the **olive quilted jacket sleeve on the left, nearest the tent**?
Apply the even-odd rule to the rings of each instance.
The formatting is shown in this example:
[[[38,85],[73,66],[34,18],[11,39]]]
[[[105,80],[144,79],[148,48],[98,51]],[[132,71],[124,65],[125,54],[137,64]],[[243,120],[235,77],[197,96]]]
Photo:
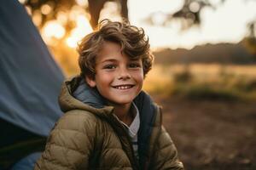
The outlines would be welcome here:
[[[51,131],[35,170],[88,169],[95,135],[95,116],[79,111],[64,114]]]

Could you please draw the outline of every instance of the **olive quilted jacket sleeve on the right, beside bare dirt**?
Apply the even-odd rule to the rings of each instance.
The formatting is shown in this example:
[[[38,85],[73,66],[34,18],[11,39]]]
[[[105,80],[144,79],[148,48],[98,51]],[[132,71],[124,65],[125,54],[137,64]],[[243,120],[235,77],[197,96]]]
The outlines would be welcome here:
[[[183,170],[183,163],[177,158],[177,149],[172,142],[171,137],[166,132],[165,127],[161,127],[160,137],[156,141],[156,150],[154,151],[154,168],[152,169],[170,169]],[[152,167],[152,166],[151,166]]]

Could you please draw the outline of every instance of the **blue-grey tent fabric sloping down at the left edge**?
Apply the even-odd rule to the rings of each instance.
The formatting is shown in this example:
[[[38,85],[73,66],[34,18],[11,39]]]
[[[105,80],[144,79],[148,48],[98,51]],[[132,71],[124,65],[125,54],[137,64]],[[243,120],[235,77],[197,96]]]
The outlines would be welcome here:
[[[63,80],[24,6],[1,0],[0,118],[48,136],[61,116],[57,98]]]

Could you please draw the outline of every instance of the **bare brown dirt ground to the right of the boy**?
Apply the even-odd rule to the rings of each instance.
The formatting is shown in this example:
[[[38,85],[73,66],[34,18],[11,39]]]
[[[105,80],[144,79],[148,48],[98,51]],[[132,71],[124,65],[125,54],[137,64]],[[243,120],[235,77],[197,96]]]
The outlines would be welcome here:
[[[256,102],[154,99],[186,169],[256,169]]]

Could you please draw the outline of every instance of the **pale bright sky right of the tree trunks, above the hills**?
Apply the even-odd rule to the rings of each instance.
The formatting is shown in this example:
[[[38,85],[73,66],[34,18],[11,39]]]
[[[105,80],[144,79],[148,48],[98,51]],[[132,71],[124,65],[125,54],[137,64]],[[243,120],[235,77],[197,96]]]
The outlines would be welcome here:
[[[210,0],[217,4],[220,0]],[[256,1],[226,0],[216,10],[204,9],[200,27],[180,32],[178,23],[171,26],[148,26],[143,19],[148,14],[173,13],[181,8],[181,0],[129,0],[131,23],[142,26],[150,38],[152,47],[193,48],[207,42],[239,42],[247,34],[247,23],[256,20]],[[147,7],[142,8],[145,4]],[[159,17],[161,20],[161,17]],[[157,17],[156,17],[157,19]]]

